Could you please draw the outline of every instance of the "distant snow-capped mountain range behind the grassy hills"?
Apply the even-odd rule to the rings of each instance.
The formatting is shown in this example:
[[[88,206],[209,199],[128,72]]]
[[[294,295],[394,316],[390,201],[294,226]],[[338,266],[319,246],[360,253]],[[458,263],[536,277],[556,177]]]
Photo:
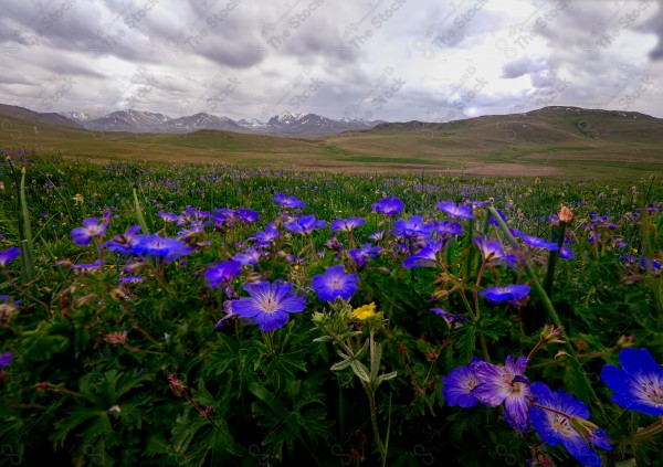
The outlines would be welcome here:
[[[233,120],[207,113],[172,118],[164,114],[145,110],[116,110],[102,117],[93,117],[80,112],[65,112],[63,117],[76,126],[97,131],[128,132],[191,132],[198,130],[227,130],[244,134],[263,134],[284,137],[325,137],[343,131],[357,131],[373,128],[383,120],[339,119],[316,114],[275,115],[267,121],[259,119]]]

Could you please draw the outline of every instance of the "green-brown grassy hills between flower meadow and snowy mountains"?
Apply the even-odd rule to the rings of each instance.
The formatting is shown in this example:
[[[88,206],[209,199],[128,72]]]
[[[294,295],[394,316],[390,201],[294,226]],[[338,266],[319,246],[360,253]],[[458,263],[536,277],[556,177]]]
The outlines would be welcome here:
[[[325,139],[201,130],[87,131],[2,114],[0,145],[116,160],[229,162],[333,170],[641,177],[663,171],[663,121],[634,113],[541,109],[446,124],[387,124]]]

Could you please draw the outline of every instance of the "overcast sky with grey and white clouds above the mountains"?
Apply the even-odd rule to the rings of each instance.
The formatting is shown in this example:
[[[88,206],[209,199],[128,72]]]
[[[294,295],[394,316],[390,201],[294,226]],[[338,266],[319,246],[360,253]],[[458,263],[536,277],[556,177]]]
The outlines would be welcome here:
[[[2,0],[0,103],[448,121],[663,117],[661,0]]]

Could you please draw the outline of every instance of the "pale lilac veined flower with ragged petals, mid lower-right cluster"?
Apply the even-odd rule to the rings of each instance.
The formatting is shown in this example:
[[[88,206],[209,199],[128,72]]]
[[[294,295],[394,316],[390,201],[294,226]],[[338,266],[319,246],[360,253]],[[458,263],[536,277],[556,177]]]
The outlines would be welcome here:
[[[473,360],[470,367],[480,383],[472,395],[484,405],[496,407],[504,402],[504,420],[522,432],[529,427],[529,382],[525,378],[527,358],[519,357],[515,362],[506,358],[504,367],[483,360]]]

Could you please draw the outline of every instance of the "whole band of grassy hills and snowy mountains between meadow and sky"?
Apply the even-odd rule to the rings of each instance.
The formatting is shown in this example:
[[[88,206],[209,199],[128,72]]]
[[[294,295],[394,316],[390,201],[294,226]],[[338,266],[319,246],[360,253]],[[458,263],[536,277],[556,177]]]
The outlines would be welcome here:
[[[314,114],[261,121],[137,110],[95,118],[0,105],[0,123],[2,149],[91,160],[573,178],[663,172],[663,119],[572,106],[446,123],[357,123]]]

